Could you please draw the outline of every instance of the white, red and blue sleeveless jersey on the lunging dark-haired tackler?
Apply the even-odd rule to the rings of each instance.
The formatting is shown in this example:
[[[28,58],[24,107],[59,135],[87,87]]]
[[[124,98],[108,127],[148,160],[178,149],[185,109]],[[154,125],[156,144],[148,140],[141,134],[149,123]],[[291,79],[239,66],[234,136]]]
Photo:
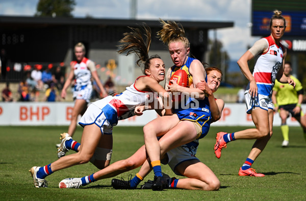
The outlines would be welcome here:
[[[137,78],[136,81],[139,78]],[[130,87],[126,87],[125,91],[123,91],[121,94],[117,96],[107,96],[93,102],[92,104],[104,112],[110,124],[116,125],[118,120],[134,116],[135,107],[148,103],[149,98],[151,98],[152,95],[152,92],[138,90],[134,83]]]

